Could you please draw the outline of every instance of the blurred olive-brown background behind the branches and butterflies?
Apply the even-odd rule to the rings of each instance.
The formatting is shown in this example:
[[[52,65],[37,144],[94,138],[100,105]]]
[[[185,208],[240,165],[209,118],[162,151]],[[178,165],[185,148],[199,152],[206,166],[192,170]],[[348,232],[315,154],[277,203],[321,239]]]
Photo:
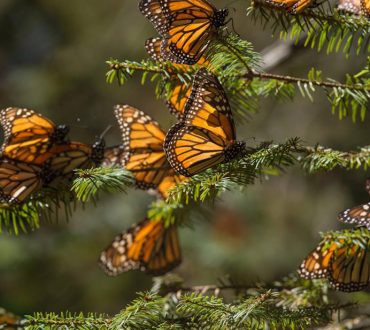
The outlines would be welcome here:
[[[219,8],[228,1],[213,1]],[[236,31],[257,51],[275,40],[246,17],[249,4],[232,1]],[[112,106],[128,103],[152,115],[164,128],[174,123],[154,88],[139,76],[125,86],[105,82],[110,58],[147,57],[146,38],[155,36],[137,9],[138,1],[2,0],[0,2],[0,107],[32,108],[71,126],[70,136],[93,142],[108,125],[108,145],[120,143]],[[235,9],[235,10],[233,10]],[[326,56],[299,50],[272,72],[305,77],[311,67],[344,80],[365,64],[365,55]],[[307,143],[351,150],[369,144],[369,117],[353,124],[331,114],[324,93],[315,102],[268,99],[258,114],[238,127],[240,139]],[[368,173],[367,173],[368,174]],[[319,241],[319,232],[344,228],[339,211],[368,201],[364,171],[284,176],[256,182],[243,193],[226,194],[217,216],[180,230],[183,263],[176,272],[187,285],[216,283],[230,275],[246,283],[271,281],[295,271]],[[153,197],[142,191],[103,196],[97,207],[74,213],[69,223],[43,224],[28,235],[0,236],[0,306],[34,311],[118,312],[152,280],[138,272],[106,276],[98,256],[113,237],[145,217]]]

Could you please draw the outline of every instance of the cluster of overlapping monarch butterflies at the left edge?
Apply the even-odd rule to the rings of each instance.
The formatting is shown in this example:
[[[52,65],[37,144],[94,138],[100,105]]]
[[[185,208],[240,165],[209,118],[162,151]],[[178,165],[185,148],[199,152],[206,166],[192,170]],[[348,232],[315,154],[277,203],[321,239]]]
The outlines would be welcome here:
[[[92,146],[69,141],[69,128],[29,109],[0,111],[4,142],[0,155],[0,207],[22,204],[42,188],[70,182],[77,168],[98,166],[104,141]]]

